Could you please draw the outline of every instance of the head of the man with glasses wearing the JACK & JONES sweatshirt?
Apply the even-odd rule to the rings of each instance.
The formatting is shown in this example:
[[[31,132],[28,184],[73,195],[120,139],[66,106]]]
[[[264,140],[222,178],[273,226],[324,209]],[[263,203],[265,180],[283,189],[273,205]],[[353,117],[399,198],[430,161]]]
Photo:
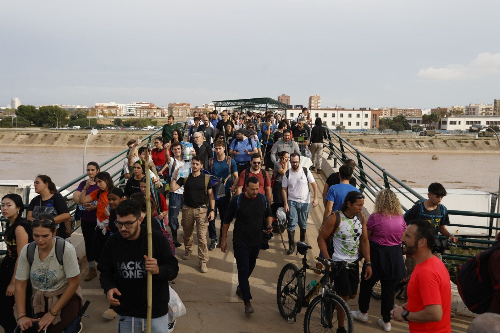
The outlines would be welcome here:
[[[116,221],[114,224],[121,237],[127,240],[134,240],[139,237],[140,223],[142,216],[140,215],[140,205],[137,201],[123,200],[116,207]]]

